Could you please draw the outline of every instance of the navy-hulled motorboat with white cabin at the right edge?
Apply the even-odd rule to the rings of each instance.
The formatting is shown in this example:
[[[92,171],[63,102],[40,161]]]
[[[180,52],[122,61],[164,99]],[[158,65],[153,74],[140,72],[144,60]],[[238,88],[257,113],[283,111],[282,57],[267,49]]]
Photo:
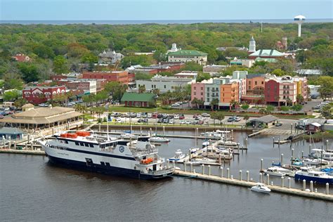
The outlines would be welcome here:
[[[311,166],[303,166],[295,173],[295,180],[298,181],[313,181],[315,183],[333,184],[333,176],[330,176],[322,171],[316,171]]]

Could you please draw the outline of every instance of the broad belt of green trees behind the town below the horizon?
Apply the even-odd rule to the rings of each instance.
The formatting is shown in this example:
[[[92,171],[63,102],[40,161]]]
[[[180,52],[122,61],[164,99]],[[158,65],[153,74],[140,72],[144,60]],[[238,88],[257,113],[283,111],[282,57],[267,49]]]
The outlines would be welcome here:
[[[176,43],[183,49],[209,53],[209,63],[226,64],[227,58],[246,57],[244,51],[216,51],[216,47],[248,47],[252,35],[257,48],[275,48],[276,41],[288,37],[289,49],[300,51],[297,61],[303,67],[320,68],[332,74],[333,23],[305,23],[302,37],[296,37],[295,24],[226,24],[202,23],[187,25],[0,25],[0,77],[39,81],[53,73],[93,70],[98,53],[115,49],[126,57],[120,65],[149,65],[166,60],[166,50]],[[153,56],[132,55],[152,52]],[[11,56],[25,53],[31,63],[15,63]],[[86,63],[82,66],[81,63]],[[13,85],[17,82],[13,83]]]

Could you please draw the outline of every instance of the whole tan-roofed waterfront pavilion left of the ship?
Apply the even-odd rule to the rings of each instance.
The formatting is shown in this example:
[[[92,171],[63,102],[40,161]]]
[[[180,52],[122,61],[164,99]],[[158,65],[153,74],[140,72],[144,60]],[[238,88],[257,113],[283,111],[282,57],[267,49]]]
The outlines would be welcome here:
[[[18,112],[0,119],[4,126],[19,129],[51,129],[60,126],[77,126],[83,124],[81,113],[67,107],[39,107],[25,112]]]

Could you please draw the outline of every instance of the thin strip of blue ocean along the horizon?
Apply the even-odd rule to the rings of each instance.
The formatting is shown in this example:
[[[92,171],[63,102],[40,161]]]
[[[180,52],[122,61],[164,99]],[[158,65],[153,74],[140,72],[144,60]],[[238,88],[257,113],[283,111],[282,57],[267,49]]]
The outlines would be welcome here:
[[[252,22],[263,22],[263,23],[291,23],[292,19],[263,19],[251,20]],[[194,23],[249,23],[250,19],[246,20],[0,20],[0,23],[8,24],[46,24],[46,25],[66,25],[66,24],[84,24],[89,25],[95,24],[109,24],[109,25],[136,25],[136,24],[194,24]],[[306,22],[333,22],[332,18],[318,18],[318,19],[307,19]]]

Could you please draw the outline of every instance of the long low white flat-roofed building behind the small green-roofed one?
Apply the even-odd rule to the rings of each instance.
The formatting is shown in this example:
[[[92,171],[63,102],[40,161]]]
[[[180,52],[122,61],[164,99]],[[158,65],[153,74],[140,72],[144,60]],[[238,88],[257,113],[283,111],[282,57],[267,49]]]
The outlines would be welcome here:
[[[185,87],[192,83],[195,83],[195,79],[163,77],[157,74],[150,80],[136,80],[136,89],[139,89],[140,86],[145,86],[146,91],[159,89],[160,93],[166,93],[167,91],[172,92],[179,87]]]

